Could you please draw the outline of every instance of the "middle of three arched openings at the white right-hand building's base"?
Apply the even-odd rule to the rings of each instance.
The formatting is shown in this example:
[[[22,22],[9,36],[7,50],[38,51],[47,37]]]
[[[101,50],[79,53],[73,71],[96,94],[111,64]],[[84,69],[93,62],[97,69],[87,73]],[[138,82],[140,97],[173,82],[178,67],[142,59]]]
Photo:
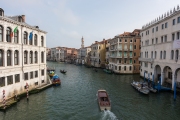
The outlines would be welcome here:
[[[171,88],[172,80],[172,69],[169,66],[165,66],[163,69],[162,84]]]

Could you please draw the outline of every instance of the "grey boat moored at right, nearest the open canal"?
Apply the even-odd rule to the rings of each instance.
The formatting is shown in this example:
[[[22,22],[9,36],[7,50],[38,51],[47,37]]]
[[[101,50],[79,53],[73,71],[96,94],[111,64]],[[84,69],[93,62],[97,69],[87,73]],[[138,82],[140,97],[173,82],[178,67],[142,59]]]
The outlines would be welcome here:
[[[131,83],[131,85],[132,85],[134,88],[136,88],[140,93],[143,93],[143,94],[145,94],[145,95],[149,94],[149,89],[148,89],[148,87],[147,87],[145,84],[143,84],[142,82],[135,82],[135,81],[133,81],[133,82]]]

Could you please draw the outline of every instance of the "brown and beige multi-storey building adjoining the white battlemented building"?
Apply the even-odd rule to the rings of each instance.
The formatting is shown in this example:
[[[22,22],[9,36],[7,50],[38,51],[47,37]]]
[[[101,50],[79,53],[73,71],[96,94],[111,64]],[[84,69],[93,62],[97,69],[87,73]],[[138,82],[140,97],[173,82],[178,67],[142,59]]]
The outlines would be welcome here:
[[[139,73],[140,30],[124,32],[110,40],[109,69],[119,74]]]

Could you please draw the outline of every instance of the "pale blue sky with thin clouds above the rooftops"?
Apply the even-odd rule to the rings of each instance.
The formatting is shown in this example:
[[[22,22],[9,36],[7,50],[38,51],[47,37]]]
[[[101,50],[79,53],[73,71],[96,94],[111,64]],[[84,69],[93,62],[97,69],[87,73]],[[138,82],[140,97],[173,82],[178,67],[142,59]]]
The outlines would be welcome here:
[[[0,0],[7,16],[47,32],[46,46],[80,48],[141,29],[180,5],[180,0]]]

